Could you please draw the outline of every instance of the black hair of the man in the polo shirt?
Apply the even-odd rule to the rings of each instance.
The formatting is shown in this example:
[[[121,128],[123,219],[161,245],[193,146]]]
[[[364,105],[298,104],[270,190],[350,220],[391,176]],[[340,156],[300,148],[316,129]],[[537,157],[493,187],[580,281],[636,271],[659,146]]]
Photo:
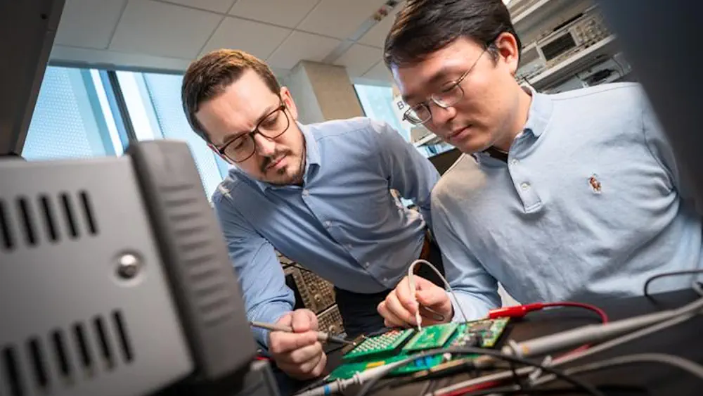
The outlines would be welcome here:
[[[522,51],[501,0],[408,0],[386,37],[383,60],[389,68],[413,65],[460,37],[481,44],[497,60],[492,44],[503,32],[512,34]]]

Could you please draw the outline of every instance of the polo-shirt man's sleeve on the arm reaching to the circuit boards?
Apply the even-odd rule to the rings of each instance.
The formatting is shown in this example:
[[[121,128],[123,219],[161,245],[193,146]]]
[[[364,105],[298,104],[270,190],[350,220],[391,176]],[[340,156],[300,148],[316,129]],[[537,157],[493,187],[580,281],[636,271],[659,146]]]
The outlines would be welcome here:
[[[434,235],[441,250],[444,272],[449,286],[454,291],[451,302],[454,309],[452,321],[475,320],[486,317],[490,309],[501,306],[498,295],[498,281],[491,276],[471,253],[465,241],[455,231],[452,215],[441,202],[441,198],[432,199],[434,214]],[[460,224],[456,224],[460,228]],[[461,307],[461,309],[459,309]]]

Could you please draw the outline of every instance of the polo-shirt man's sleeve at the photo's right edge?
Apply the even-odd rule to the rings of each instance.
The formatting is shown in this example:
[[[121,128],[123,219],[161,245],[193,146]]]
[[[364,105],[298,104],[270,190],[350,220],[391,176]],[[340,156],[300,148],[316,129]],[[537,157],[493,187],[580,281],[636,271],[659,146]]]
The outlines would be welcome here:
[[[699,213],[703,214],[703,203],[695,202],[695,191],[685,170],[680,162],[676,160],[671,143],[664,133],[662,124],[659,124],[656,113],[643,91],[640,91],[642,109],[642,129],[645,134],[645,141],[650,153],[659,164],[669,172],[671,186],[676,189],[679,196],[684,200],[689,200],[697,207]]]

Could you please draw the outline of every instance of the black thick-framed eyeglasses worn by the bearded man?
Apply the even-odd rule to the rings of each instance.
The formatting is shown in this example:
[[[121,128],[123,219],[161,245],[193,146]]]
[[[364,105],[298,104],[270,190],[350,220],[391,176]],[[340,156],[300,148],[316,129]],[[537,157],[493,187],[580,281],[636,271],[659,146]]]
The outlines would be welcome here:
[[[252,132],[237,136],[217,148],[217,151],[231,162],[244,162],[257,151],[255,134],[261,134],[266,139],[276,139],[288,131],[288,127],[290,127],[290,119],[285,113],[285,104],[281,101],[280,106],[262,118]]]

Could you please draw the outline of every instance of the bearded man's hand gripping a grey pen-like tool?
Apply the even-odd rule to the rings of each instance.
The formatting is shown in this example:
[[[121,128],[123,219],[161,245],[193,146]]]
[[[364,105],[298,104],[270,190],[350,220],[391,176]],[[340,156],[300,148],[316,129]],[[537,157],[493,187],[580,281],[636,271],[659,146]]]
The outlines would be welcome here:
[[[300,380],[320,376],[327,364],[327,355],[317,340],[315,314],[309,309],[297,309],[283,315],[276,324],[293,328],[293,333],[269,333],[269,351],[278,367]]]

